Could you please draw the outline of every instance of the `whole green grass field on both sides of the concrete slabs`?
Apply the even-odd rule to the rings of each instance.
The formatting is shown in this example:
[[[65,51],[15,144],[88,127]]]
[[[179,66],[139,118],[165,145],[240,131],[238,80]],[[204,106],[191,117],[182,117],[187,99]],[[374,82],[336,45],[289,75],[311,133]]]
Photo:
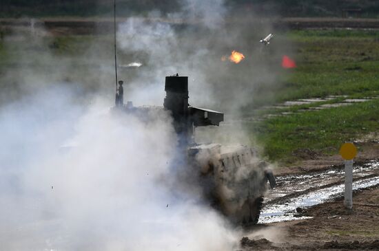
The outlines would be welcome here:
[[[298,48],[298,67],[276,92],[277,102],[329,95],[378,96],[378,32],[305,30],[291,31],[288,36]],[[263,145],[270,160],[291,163],[300,160],[296,155],[298,151],[309,149],[317,154],[336,154],[345,141],[378,131],[378,111],[379,101],[373,100],[348,107],[270,118],[249,124],[247,128],[252,132],[252,138]]]

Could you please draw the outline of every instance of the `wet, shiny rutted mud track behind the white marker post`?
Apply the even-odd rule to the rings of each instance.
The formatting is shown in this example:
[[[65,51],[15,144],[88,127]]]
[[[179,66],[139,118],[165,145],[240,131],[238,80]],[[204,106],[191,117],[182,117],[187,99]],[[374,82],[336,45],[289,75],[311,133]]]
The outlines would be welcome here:
[[[358,180],[353,182],[353,189],[378,185],[378,171],[377,161],[354,166],[354,178]],[[306,219],[299,217],[296,210],[334,199],[342,195],[345,187],[343,168],[305,175],[285,175],[278,177],[277,182],[278,188],[270,190],[265,199],[258,223]]]

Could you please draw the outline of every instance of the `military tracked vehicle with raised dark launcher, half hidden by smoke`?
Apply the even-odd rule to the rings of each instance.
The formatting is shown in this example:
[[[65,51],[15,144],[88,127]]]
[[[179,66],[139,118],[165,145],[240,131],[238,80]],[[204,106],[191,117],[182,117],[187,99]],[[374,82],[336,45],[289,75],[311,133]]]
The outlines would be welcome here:
[[[271,188],[276,184],[267,163],[260,161],[256,151],[247,146],[196,144],[194,129],[218,126],[223,122],[224,114],[189,105],[187,76],[167,76],[165,91],[161,109],[171,113],[178,134],[178,152],[186,155],[188,168],[193,168],[190,173],[198,176],[196,180],[203,188],[204,197],[233,223],[257,223],[263,195],[268,187],[267,181]],[[137,116],[143,116],[148,110],[147,107],[134,107],[132,102],[123,104],[122,83],[113,109],[136,113]]]

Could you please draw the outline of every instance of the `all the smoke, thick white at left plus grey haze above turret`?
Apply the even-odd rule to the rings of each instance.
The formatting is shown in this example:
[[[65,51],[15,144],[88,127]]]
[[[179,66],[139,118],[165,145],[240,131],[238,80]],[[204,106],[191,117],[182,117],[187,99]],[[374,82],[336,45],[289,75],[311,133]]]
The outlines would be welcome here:
[[[251,102],[257,84],[274,85],[270,71],[276,66],[264,60],[260,44],[252,46],[269,28],[246,33],[252,29],[248,24],[226,23],[221,0],[181,3],[183,11],[168,16],[186,19],[183,23],[133,17],[119,25],[119,65],[142,64],[119,69],[126,84],[124,100],[162,105],[164,77],[178,73],[189,76],[191,105],[237,113]],[[157,13],[150,17],[159,17]],[[50,53],[64,48],[54,48],[58,45],[41,39],[45,36],[24,32],[4,40],[19,62],[1,72],[9,82],[0,100],[1,247],[236,248],[238,230],[209,207],[196,184],[181,183],[189,172],[174,162],[170,116],[151,113],[150,122],[142,122],[110,112],[112,41],[107,40],[109,52],[96,41],[88,43],[79,61]],[[20,39],[32,53],[14,50]],[[241,50],[245,61],[221,61],[232,50]],[[279,54],[272,53],[274,58]],[[226,141],[249,143],[240,141],[247,137],[237,128]]]

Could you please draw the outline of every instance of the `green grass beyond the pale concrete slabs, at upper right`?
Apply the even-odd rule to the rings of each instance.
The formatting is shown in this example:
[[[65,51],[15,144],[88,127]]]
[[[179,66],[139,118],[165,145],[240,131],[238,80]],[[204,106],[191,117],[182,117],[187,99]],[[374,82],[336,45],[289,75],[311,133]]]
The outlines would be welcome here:
[[[379,33],[372,31],[298,31],[298,67],[278,90],[277,100],[366,96],[379,90]]]

